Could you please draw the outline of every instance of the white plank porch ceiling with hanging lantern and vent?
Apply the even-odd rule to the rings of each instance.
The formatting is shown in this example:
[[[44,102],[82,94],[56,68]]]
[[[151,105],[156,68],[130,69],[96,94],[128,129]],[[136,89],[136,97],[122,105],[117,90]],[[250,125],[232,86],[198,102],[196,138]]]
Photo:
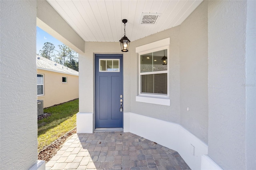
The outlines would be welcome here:
[[[203,0],[48,0],[86,42],[118,42],[127,19],[130,41],[180,25]],[[155,24],[141,24],[142,14],[158,13]]]

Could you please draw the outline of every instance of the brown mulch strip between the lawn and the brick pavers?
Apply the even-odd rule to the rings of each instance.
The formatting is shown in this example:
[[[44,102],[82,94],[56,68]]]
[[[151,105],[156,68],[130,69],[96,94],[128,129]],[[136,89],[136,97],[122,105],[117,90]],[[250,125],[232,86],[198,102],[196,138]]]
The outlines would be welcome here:
[[[44,147],[39,153],[38,153],[38,160],[44,160],[46,163],[60,150],[64,142],[70,137],[72,134],[76,133],[76,128],[70,130],[54,142],[52,142],[50,145]]]

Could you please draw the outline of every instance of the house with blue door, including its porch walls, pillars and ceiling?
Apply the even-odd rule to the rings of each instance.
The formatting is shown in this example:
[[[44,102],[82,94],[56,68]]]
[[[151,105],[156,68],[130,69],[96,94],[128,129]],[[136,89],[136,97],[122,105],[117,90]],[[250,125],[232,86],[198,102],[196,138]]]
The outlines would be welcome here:
[[[37,168],[36,26],[79,53],[78,133],[124,128],[178,151],[192,169],[255,169],[256,1],[0,1],[0,8],[0,169]],[[151,11],[170,27],[138,24]],[[118,42],[122,19],[127,53]],[[163,52],[167,68],[154,63]],[[143,72],[147,57],[152,72]]]

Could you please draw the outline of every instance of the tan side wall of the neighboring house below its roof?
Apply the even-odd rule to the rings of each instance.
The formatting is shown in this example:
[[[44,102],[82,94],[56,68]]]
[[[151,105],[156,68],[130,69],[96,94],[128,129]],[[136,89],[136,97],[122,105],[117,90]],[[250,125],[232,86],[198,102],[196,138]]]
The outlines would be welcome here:
[[[38,69],[37,73],[44,75],[44,95],[37,97],[38,100],[44,101],[44,107],[50,107],[79,97],[78,75],[42,69]],[[62,83],[62,77],[67,77],[67,83]]]

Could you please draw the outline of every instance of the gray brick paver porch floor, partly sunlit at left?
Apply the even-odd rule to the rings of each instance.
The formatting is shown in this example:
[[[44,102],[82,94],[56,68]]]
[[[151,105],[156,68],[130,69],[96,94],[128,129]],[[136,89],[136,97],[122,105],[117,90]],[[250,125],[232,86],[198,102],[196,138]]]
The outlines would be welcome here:
[[[130,132],[73,134],[46,170],[190,169],[178,152]]]

